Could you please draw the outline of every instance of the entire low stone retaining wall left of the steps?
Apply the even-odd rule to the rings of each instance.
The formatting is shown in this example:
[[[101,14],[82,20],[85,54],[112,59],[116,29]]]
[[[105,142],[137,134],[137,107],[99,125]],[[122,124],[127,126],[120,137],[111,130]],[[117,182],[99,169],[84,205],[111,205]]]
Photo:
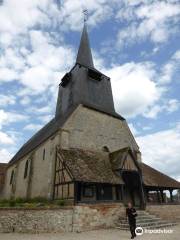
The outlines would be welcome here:
[[[110,228],[124,214],[120,203],[59,209],[0,209],[0,232],[81,232]]]

